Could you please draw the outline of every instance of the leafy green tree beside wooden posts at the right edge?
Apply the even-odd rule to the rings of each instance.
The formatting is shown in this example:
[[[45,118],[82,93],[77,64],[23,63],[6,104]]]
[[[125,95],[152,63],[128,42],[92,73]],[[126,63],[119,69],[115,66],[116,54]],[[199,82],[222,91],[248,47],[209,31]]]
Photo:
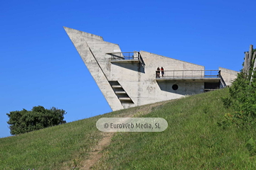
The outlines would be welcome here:
[[[256,125],[255,55],[256,49],[250,45],[250,52],[245,52],[243,69],[230,86],[229,96],[223,98],[224,106],[232,107],[234,111],[234,113],[225,115],[228,120],[223,123],[226,125],[228,122],[235,123],[242,128]]]

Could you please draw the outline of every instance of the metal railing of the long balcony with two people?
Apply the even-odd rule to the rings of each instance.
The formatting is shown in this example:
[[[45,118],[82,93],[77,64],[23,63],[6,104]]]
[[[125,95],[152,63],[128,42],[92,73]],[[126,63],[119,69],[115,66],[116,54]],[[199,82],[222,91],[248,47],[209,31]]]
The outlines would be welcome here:
[[[156,79],[161,78],[220,78],[220,70],[166,70],[164,76],[161,71],[156,71]]]

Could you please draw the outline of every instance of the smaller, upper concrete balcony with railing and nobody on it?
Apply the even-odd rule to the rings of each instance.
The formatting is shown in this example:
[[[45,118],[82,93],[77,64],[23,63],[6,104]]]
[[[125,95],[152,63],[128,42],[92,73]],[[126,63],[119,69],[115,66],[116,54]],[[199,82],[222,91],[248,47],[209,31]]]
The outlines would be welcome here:
[[[141,55],[139,52],[111,52],[106,53],[111,55],[111,63],[139,63],[141,62]]]

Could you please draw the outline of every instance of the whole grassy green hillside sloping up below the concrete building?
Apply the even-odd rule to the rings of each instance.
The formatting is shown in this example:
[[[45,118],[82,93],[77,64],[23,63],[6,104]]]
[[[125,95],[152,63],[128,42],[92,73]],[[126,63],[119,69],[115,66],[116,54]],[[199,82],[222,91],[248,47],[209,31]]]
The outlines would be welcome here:
[[[139,106],[0,139],[0,169],[84,169],[105,137],[99,118],[164,118],[164,132],[116,132],[92,169],[256,169],[245,144],[256,130],[220,128],[228,89]],[[148,113],[148,114],[146,114]]]

